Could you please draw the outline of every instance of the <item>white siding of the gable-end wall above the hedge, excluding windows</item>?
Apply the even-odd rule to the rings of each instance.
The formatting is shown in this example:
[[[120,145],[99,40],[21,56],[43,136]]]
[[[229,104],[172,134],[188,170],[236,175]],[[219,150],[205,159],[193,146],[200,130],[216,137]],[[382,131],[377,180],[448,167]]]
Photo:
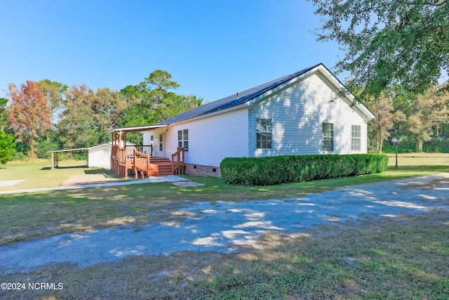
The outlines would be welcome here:
[[[256,119],[272,119],[272,148],[257,149]],[[250,156],[324,154],[323,123],[333,124],[334,154],[366,152],[366,121],[349,101],[337,96],[320,72],[304,77],[267,98],[249,112]],[[351,125],[361,126],[361,150],[351,150]]]

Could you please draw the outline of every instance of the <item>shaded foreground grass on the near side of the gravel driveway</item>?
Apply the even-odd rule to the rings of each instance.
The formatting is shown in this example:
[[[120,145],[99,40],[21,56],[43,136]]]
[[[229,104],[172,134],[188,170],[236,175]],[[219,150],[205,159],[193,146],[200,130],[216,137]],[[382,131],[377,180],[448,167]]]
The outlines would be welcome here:
[[[449,299],[448,214],[265,235],[237,254],[131,256],[2,276],[62,282],[61,291],[0,291],[1,299]]]

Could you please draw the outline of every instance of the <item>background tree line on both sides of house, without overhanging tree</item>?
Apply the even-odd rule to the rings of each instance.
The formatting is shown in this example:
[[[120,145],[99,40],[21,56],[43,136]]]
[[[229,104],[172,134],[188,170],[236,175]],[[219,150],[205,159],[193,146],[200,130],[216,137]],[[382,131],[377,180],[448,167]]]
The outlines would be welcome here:
[[[156,124],[202,105],[203,99],[174,93],[179,84],[156,70],[121,91],[93,91],[44,79],[9,85],[0,100],[0,162],[12,157],[48,157],[48,150],[86,148],[111,140],[113,127]],[[354,86],[351,81],[348,86]],[[391,138],[401,138],[401,152],[449,152],[449,81],[420,94],[400,84],[365,97],[375,119],[368,123],[369,152],[392,152]],[[360,96],[363,89],[353,89]],[[138,133],[128,140],[142,143]]]

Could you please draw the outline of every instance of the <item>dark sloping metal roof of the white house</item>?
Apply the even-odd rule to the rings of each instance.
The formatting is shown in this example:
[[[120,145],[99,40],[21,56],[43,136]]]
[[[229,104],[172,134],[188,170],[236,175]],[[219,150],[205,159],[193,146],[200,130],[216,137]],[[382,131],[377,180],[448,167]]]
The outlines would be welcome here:
[[[170,117],[170,118],[166,119],[165,121],[159,123],[158,125],[173,124],[175,122],[180,122],[180,121],[184,121],[186,119],[192,119],[194,117],[207,115],[207,114],[210,114],[211,112],[225,110],[229,107],[233,107],[236,105],[246,103],[249,100],[256,98],[257,96],[260,96],[262,93],[272,90],[272,89],[276,88],[277,86],[280,86],[281,84],[284,84],[284,83],[290,81],[291,79],[294,79],[295,77],[299,77],[300,75],[307,73],[310,70],[313,70],[315,67],[318,67],[320,65],[322,65],[324,67],[324,65],[321,63],[319,63],[318,65],[311,66],[311,67],[307,67],[304,70],[300,70],[298,72],[289,74],[289,75],[281,77],[279,79],[269,81],[266,84],[261,84],[260,86],[255,86],[251,89],[247,89],[246,91],[241,91],[239,93],[235,93],[234,95],[227,96],[225,98],[213,101],[211,103],[207,103],[205,105],[201,105],[192,110],[187,110],[186,112],[182,112],[179,115],[175,115],[174,117]]]

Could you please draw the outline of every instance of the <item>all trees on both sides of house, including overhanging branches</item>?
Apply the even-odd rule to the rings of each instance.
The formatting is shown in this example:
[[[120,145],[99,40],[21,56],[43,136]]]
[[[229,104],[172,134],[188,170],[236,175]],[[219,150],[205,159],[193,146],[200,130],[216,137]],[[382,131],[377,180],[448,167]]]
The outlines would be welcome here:
[[[391,138],[402,139],[402,151],[449,152],[449,84],[438,84],[449,74],[449,0],[308,1],[321,17],[317,40],[340,45],[337,72],[350,72],[347,89],[375,115],[370,152],[390,152]],[[156,124],[201,105],[170,91],[178,86],[161,70],[119,92],[48,79],[10,84],[11,102],[0,98],[0,162],[15,151],[88,147],[109,141],[110,127]]]

